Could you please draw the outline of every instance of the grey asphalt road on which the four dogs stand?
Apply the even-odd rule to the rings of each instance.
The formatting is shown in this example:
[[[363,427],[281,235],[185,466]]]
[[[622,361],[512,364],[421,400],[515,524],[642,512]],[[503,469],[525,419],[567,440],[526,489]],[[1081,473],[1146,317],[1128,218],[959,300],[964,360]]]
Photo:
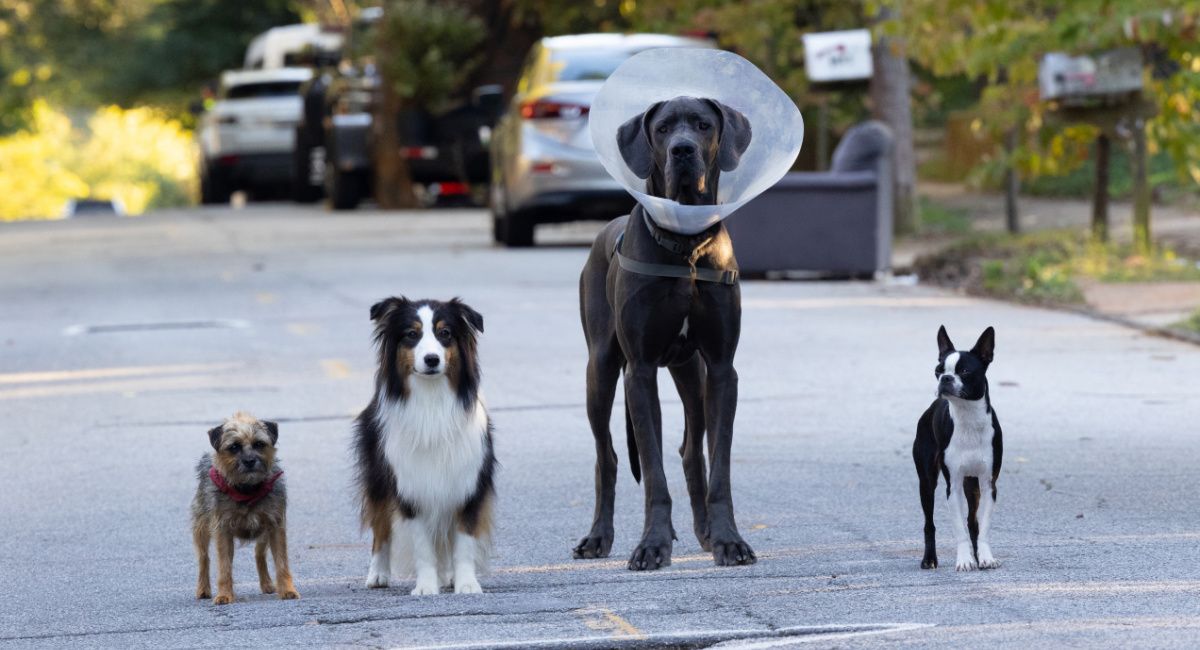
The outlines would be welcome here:
[[[743,284],[733,480],[757,565],[701,553],[671,462],[674,564],[626,571],[642,506],[623,450],[613,556],[571,560],[593,444],[569,242],[588,233],[514,252],[481,211],[290,205],[0,227],[0,646],[1200,644],[1200,349],[905,283]],[[503,468],[482,595],[362,586],[349,422],[367,309],[391,294],[485,315]],[[995,571],[944,566],[941,504],[943,567],[918,568],[910,447],[943,323],[962,345],[998,332]],[[299,601],[257,592],[248,548],[235,604],[193,600],[192,465],[236,409],[281,422]],[[676,399],[664,416],[673,449]]]

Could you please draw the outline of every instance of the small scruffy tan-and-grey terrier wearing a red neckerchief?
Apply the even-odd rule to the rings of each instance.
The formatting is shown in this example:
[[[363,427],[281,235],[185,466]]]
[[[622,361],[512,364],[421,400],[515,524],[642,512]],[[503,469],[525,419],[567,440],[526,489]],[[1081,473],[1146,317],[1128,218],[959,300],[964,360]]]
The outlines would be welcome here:
[[[215,453],[205,453],[196,465],[196,498],[192,499],[192,536],[200,574],[196,597],[212,596],[209,583],[209,542],[217,546],[217,595],[214,604],[228,604],[233,595],[234,540],[254,541],[258,584],[263,594],[299,598],[288,568],[288,495],[283,470],[275,462],[280,427],[236,413],[209,431]],[[276,583],[266,570],[266,549],[275,558]]]

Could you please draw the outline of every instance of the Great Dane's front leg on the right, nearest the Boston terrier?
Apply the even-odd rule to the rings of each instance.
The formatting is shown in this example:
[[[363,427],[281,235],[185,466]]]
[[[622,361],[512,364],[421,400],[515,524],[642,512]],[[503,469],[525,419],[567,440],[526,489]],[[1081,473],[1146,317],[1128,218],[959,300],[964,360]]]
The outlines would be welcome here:
[[[700,314],[694,324],[700,351],[708,368],[704,389],[704,422],[709,437],[708,540],[718,566],[746,565],[757,561],[750,544],[738,534],[733,517],[733,493],[730,487],[730,462],[733,449],[733,417],[738,405],[738,373],[733,369],[742,331],[740,294],[734,287],[706,288],[701,291]]]

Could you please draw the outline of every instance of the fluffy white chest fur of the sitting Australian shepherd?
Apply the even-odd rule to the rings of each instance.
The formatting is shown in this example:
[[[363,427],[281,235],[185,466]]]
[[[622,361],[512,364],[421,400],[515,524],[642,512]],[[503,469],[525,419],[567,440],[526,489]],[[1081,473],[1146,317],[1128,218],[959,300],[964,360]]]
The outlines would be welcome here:
[[[475,492],[486,455],[487,411],[464,409],[445,375],[412,377],[408,399],[379,396],[384,457],[400,496],[422,517],[452,517]]]

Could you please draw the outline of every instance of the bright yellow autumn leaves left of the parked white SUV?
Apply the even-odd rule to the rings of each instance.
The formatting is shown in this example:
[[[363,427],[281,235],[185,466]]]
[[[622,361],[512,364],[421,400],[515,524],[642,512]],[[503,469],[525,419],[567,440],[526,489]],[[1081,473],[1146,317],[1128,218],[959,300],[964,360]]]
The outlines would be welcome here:
[[[73,122],[46,102],[32,115],[0,139],[0,221],[55,218],[72,198],[119,199],[131,215],[191,201],[194,149],[178,121],[104,107]]]

